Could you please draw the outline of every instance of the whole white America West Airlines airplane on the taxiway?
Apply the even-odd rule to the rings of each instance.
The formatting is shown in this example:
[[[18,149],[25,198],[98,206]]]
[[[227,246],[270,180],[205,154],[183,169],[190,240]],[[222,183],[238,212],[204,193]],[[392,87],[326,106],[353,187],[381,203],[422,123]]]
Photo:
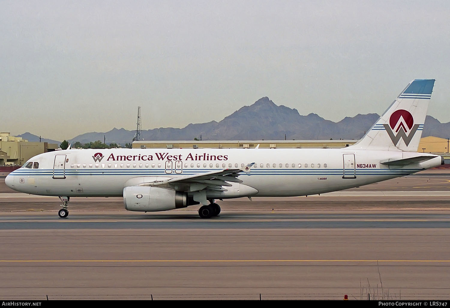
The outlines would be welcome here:
[[[324,194],[403,177],[444,163],[417,153],[434,79],[415,79],[356,144],[342,149],[69,149],[36,155],[5,179],[31,195],[123,197],[129,211],[156,212],[216,199]]]

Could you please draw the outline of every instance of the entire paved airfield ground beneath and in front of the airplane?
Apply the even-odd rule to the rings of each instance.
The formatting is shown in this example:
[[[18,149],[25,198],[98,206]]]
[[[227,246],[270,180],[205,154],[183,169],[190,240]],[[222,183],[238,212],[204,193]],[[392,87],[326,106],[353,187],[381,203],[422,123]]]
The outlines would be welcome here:
[[[449,299],[450,175],[133,213],[0,183],[0,298]],[[395,182],[394,182],[395,181]]]

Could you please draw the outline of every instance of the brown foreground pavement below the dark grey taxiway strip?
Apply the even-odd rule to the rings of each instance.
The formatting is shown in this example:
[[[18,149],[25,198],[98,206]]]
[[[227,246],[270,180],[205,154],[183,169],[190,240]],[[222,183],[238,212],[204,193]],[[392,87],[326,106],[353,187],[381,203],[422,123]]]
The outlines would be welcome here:
[[[8,299],[450,295],[448,228],[59,229],[1,234],[0,297]]]

